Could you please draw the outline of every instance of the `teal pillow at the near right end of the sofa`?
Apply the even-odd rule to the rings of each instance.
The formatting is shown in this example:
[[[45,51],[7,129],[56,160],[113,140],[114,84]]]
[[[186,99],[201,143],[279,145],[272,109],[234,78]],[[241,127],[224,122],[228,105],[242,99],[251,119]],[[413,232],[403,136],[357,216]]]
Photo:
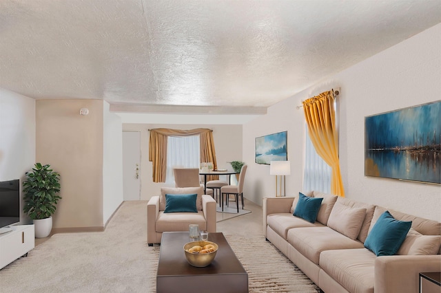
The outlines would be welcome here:
[[[365,248],[375,253],[377,257],[393,255],[398,252],[412,221],[398,221],[389,210],[380,215],[365,240]]]

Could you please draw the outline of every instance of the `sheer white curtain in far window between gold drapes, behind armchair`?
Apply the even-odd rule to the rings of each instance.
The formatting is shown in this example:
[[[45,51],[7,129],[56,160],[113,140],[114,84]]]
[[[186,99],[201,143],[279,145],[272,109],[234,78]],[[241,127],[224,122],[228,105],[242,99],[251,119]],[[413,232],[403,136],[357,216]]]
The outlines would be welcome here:
[[[165,183],[174,186],[173,168],[199,168],[199,162],[201,162],[199,135],[169,136],[167,140]]]

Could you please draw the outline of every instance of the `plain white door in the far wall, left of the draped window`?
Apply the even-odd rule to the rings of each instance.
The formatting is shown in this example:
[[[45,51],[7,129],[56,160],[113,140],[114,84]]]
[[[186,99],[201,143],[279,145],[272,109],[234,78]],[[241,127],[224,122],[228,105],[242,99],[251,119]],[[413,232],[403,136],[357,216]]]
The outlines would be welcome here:
[[[140,133],[123,131],[123,191],[124,200],[141,199]]]

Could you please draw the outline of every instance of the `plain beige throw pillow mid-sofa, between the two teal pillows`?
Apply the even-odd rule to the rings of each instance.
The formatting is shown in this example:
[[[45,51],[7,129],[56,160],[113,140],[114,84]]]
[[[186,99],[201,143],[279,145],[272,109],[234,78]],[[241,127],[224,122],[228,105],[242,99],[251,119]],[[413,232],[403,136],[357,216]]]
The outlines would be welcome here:
[[[365,215],[366,208],[350,208],[336,202],[329,215],[328,227],[351,239],[357,239]]]

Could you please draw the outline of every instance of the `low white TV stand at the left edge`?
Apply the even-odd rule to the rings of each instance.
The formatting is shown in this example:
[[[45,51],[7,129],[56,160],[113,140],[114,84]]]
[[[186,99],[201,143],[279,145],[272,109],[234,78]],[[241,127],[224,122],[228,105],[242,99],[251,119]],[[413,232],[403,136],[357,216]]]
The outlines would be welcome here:
[[[35,247],[34,225],[11,226],[0,234],[0,270]]]

